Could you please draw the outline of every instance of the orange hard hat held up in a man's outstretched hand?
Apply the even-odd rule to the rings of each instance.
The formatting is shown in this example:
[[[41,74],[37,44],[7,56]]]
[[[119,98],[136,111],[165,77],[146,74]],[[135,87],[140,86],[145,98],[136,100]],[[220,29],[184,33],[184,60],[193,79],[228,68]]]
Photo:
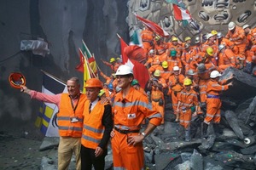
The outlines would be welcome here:
[[[20,85],[26,85],[26,78],[20,72],[12,72],[9,75],[9,84],[13,88],[21,88]]]

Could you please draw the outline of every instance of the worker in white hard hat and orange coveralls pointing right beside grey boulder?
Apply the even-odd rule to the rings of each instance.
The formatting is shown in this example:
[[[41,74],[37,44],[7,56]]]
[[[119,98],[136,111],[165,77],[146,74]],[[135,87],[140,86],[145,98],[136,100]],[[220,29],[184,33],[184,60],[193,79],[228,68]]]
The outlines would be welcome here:
[[[232,86],[232,82],[221,85],[230,80],[233,76],[224,80],[224,82],[218,82],[221,74],[218,71],[212,71],[210,74],[210,80],[207,82],[207,116],[203,123],[203,137],[207,137],[207,127],[210,122],[213,122],[214,130],[219,129],[220,122],[220,107],[221,100],[219,94],[221,91],[227,90]]]

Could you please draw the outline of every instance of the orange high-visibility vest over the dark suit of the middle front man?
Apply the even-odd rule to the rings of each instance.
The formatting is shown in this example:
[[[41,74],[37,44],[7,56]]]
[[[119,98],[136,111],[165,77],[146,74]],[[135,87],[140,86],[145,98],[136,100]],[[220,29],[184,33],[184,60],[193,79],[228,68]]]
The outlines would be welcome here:
[[[89,113],[90,100],[84,103],[84,128],[81,144],[86,148],[96,149],[100,144],[105,127],[102,125],[104,105],[98,101],[93,110]]]

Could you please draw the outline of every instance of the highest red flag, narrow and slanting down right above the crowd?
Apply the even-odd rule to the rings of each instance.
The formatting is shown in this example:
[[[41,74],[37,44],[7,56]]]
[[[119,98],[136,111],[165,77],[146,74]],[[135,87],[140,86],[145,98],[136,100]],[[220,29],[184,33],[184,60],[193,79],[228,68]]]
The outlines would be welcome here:
[[[135,13],[134,13],[135,14]],[[151,20],[144,19],[143,17],[140,17],[139,15],[135,14],[138,20],[141,20],[145,26],[148,27],[149,30],[154,31],[161,37],[169,37],[168,32],[166,32],[164,29],[162,29],[160,26],[155,24]]]

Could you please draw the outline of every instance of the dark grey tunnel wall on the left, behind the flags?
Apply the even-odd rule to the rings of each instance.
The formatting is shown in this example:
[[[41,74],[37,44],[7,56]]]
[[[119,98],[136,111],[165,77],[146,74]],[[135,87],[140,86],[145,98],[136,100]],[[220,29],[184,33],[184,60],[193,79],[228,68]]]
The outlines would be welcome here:
[[[18,135],[27,131],[28,136],[38,136],[38,132],[33,132],[37,131],[33,124],[39,102],[10,88],[11,72],[22,72],[27,87],[38,91],[42,86],[40,70],[63,81],[68,77],[83,80],[83,74],[75,67],[79,65],[79,48],[84,39],[102,71],[110,73],[100,59],[119,56],[116,33],[127,41],[126,3],[126,0],[0,2],[0,131]],[[38,38],[48,42],[49,54],[45,57],[32,54],[32,51],[20,51],[21,40]]]

